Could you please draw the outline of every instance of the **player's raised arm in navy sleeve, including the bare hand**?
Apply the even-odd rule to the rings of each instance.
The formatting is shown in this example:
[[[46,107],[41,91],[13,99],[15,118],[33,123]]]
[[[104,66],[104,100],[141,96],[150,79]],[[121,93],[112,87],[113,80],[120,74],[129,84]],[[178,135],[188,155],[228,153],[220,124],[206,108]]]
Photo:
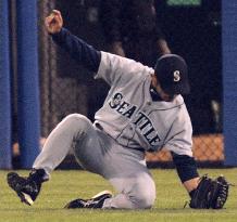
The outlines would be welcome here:
[[[101,53],[63,28],[63,18],[60,11],[53,10],[52,13],[46,17],[45,24],[47,31],[52,36],[53,41],[58,45],[68,52],[74,60],[89,70],[98,71]]]

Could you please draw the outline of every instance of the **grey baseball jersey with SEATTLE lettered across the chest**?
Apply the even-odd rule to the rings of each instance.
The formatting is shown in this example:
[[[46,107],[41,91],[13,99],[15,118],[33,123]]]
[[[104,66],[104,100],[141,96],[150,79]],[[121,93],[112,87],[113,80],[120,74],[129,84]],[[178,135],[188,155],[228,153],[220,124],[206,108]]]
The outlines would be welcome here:
[[[192,127],[184,99],[152,101],[151,75],[154,70],[133,60],[101,52],[95,78],[111,89],[95,123],[121,145],[146,151],[165,147],[178,155],[192,156]]]

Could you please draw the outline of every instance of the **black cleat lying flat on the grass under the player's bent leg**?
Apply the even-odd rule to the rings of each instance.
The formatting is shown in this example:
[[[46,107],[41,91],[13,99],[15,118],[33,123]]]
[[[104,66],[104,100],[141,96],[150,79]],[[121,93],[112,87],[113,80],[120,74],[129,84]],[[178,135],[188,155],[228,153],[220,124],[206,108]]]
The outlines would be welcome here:
[[[100,192],[90,199],[74,199],[70,201],[64,208],[76,209],[76,208],[102,208],[105,199],[111,198],[112,194],[109,191]]]

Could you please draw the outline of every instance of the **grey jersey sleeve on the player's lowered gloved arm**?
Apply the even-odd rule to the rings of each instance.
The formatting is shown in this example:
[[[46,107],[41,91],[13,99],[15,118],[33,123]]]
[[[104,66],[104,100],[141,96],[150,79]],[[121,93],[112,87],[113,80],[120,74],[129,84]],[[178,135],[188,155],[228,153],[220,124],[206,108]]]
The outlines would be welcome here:
[[[185,104],[173,122],[165,149],[192,157],[192,126]]]

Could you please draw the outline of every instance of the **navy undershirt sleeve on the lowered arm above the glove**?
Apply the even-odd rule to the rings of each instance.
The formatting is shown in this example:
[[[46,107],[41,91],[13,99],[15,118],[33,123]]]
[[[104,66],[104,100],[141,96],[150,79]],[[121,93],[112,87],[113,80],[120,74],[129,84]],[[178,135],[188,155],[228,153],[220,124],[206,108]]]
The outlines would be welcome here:
[[[175,153],[172,153],[172,157],[176,166],[177,174],[183,183],[199,177],[194,157],[177,155]]]

